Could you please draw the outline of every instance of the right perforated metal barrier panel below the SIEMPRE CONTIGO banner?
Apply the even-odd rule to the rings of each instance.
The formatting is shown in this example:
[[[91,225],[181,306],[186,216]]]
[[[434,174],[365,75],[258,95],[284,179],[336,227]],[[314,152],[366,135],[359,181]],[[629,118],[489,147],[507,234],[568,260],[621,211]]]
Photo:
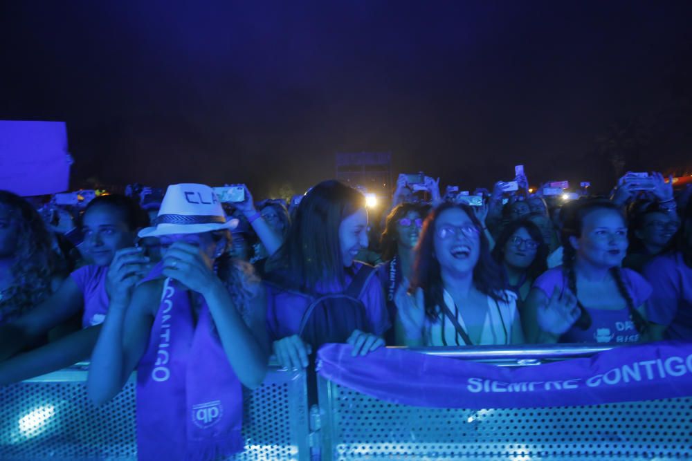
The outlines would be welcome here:
[[[692,399],[536,409],[389,404],[318,378],[322,459],[692,458]]]

